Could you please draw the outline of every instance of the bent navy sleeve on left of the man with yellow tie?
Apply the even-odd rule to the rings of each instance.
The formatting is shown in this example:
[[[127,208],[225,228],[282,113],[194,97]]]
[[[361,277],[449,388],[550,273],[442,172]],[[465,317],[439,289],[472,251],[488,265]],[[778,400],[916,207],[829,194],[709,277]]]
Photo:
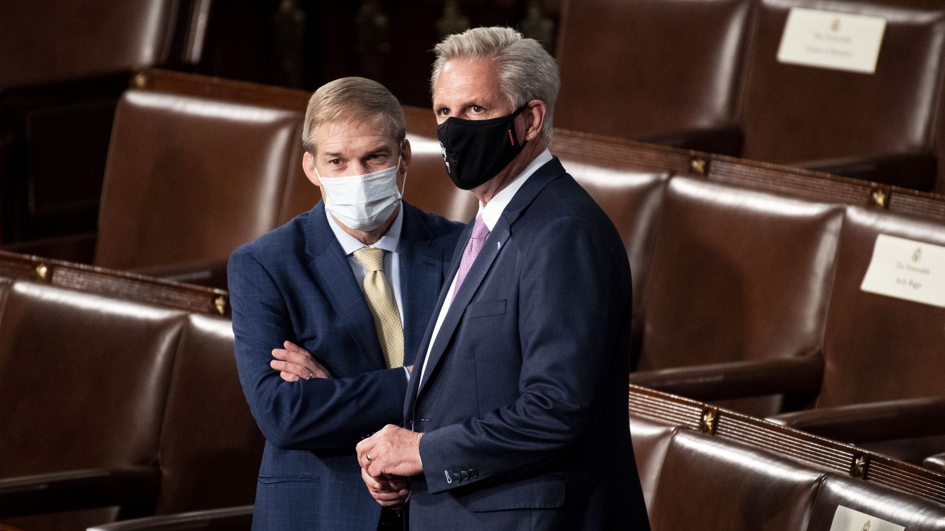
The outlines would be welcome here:
[[[403,368],[283,381],[269,367],[275,359],[272,350],[297,340],[282,294],[266,268],[243,248],[233,252],[228,277],[240,383],[269,444],[287,450],[337,448],[403,420]]]

